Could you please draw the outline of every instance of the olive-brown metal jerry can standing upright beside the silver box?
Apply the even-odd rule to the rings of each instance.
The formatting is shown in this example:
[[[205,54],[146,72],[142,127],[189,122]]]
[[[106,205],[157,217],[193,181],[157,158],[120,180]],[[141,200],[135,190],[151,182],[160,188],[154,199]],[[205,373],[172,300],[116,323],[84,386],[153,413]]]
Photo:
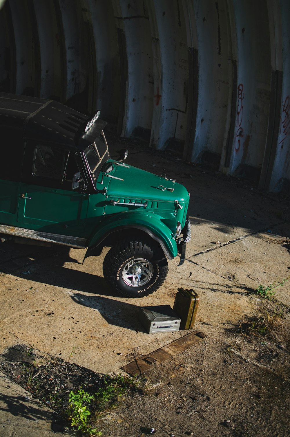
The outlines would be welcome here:
[[[175,296],[173,310],[181,318],[180,329],[192,329],[195,324],[195,317],[198,311],[199,296],[191,288],[184,290],[178,288]]]

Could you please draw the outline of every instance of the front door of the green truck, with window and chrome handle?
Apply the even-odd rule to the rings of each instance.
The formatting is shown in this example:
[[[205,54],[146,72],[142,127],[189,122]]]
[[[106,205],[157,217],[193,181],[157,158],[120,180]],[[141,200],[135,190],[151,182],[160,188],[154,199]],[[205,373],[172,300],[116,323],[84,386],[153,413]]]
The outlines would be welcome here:
[[[72,190],[72,177],[77,171],[73,149],[27,144],[18,226],[85,238],[89,194]]]

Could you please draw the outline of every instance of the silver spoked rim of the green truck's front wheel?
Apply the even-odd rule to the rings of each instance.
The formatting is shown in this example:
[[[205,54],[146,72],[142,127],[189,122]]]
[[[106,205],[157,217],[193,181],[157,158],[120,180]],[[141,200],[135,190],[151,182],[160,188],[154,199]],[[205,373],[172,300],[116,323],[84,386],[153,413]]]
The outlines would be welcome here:
[[[130,287],[143,287],[152,279],[153,265],[144,258],[134,258],[127,262],[122,271],[125,284]]]

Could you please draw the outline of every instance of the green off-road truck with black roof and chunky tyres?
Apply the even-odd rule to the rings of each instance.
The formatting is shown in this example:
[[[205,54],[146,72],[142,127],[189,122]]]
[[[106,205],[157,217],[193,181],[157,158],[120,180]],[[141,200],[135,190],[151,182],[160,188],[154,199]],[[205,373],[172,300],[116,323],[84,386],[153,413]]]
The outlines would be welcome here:
[[[146,296],[165,280],[167,258],[184,261],[190,196],[124,164],[127,150],[111,159],[98,116],[0,93],[0,238],[87,248],[85,257],[109,246],[107,283]]]

